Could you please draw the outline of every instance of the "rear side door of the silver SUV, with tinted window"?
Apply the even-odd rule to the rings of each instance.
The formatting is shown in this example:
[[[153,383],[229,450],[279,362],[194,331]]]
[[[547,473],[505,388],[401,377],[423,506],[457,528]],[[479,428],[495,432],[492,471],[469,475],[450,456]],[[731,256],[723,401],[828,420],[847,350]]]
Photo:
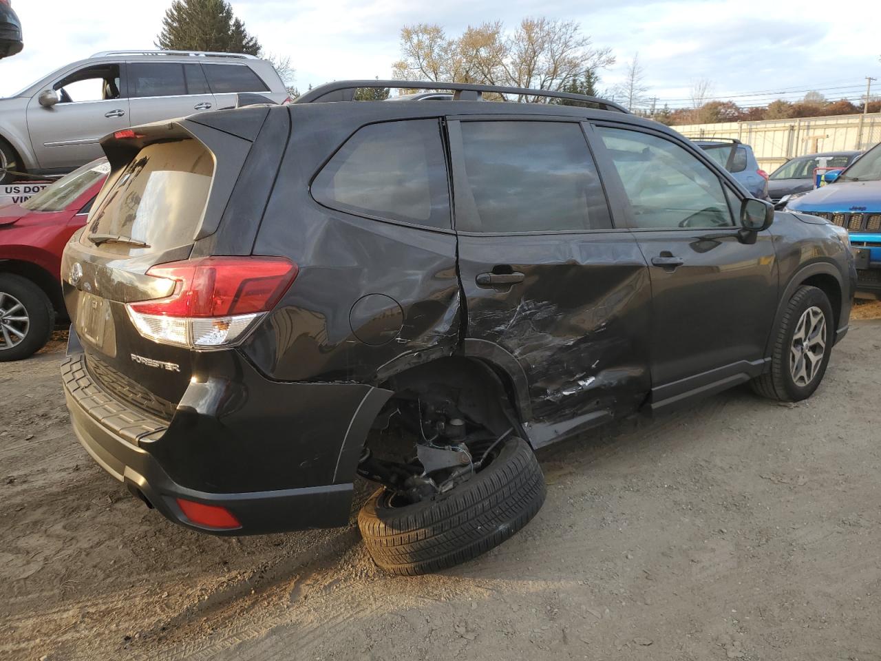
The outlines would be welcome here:
[[[127,69],[131,126],[215,108],[199,63],[130,62]]]

